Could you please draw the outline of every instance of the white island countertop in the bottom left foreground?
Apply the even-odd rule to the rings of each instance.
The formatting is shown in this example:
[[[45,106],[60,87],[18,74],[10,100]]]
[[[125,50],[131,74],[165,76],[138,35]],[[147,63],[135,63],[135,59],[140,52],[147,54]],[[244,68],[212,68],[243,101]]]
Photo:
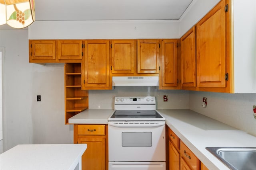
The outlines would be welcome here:
[[[1,170],[74,170],[86,144],[17,145],[0,154]]]

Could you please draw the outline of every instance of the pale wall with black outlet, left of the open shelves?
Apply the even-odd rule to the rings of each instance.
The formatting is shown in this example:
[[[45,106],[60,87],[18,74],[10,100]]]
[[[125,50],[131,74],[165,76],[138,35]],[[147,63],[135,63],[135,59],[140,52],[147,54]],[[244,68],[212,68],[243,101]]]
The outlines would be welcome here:
[[[28,63],[26,29],[0,30],[0,47],[6,51],[4,151],[18,144],[73,143],[73,126],[64,125],[64,65]]]

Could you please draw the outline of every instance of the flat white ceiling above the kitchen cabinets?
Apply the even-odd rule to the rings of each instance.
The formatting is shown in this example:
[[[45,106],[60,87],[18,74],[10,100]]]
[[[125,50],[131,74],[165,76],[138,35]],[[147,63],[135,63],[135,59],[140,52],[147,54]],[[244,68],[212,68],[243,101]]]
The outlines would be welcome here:
[[[35,0],[36,21],[178,20],[193,0]]]

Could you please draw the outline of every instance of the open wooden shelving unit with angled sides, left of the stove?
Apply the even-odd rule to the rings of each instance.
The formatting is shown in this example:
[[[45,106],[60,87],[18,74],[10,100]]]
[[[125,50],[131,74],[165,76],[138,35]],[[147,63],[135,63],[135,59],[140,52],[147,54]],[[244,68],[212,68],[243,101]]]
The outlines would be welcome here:
[[[81,63],[66,63],[65,74],[65,124],[68,119],[88,108],[88,90],[81,89]]]

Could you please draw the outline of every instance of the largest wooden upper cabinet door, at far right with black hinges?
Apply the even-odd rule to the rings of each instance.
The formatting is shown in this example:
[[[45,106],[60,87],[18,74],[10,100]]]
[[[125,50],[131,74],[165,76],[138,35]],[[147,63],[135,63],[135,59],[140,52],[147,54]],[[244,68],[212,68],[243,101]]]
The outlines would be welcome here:
[[[198,87],[226,87],[225,0],[196,24]]]

